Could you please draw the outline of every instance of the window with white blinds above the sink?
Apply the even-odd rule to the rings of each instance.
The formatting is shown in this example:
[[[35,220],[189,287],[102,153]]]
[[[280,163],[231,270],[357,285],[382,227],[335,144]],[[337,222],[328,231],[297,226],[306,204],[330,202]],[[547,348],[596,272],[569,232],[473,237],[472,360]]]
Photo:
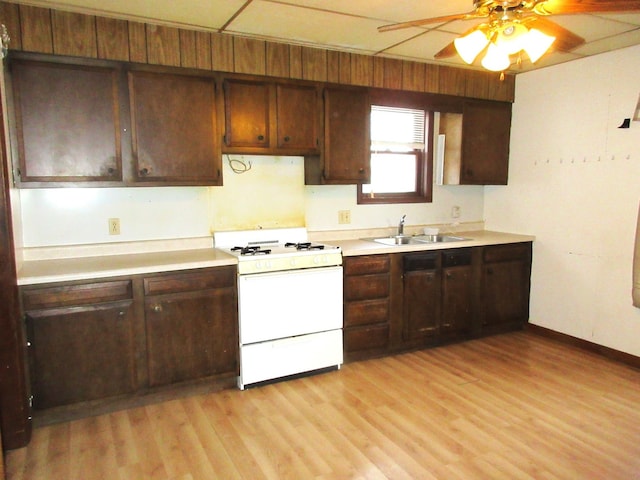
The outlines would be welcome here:
[[[429,120],[424,110],[371,106],[371,183],[358,187],[358,203],[431,201]]]

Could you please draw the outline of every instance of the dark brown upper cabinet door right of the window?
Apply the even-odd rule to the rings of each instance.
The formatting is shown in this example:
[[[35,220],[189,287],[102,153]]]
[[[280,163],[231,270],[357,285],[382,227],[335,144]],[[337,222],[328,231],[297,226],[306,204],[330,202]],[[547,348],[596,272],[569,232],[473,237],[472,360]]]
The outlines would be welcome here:
[[[510,132],[510,103],[465,102],[461,184],[507,184]]]

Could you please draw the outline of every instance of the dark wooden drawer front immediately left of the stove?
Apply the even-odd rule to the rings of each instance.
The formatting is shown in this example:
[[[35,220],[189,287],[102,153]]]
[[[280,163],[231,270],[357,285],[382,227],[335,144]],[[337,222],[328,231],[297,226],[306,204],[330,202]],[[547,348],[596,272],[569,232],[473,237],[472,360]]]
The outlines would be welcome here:
[[[236,267],[219,267],[189,273],[174,273],[144,279],[145,295],[193,292],[235,285]]]

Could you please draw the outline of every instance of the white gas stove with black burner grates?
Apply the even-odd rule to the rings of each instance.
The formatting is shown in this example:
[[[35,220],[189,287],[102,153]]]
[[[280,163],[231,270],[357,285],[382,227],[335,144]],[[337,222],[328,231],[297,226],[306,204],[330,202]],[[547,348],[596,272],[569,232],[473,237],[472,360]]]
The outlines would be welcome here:
[[[220,232],[214,244],[238,259],[241,389],[340,367],[340,248],[309,242],[304,228]]]

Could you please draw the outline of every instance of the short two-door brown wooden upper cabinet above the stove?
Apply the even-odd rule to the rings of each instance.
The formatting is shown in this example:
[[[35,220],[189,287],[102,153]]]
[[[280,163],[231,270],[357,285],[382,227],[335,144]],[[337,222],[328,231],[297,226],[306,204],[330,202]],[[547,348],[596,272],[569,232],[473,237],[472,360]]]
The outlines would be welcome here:
[[[318,88],[226,79],[225,153],[313,155],[319,152]]]

